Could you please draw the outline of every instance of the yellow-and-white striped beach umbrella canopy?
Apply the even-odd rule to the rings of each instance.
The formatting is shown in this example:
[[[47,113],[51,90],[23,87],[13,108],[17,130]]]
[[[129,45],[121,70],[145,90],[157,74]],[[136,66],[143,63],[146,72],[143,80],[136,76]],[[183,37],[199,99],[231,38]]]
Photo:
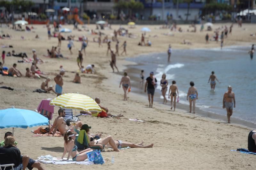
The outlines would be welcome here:
[[[66,93],[55,97],[50,101],[50,105],[89,112],[101,112],[100,106],[91,97],[76,93]]]

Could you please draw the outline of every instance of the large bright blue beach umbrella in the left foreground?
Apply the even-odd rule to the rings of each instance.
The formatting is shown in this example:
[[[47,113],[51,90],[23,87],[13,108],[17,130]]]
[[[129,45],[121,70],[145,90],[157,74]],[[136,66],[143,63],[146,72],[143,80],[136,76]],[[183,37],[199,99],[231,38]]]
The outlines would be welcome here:
[[[34,126],[48,125],[48,118],[26,109],[2,109],[0,110],[0,128],[31,128]]]

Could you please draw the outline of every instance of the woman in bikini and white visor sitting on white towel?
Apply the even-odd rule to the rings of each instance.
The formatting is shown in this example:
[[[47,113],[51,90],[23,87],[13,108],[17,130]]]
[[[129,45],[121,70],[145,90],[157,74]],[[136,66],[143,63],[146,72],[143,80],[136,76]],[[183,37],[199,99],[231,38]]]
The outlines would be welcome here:
[[[76,139],[76,134],[74,131],[69,130],[65,135],[64,135],[64,152],[62,154],[61,159],[64,158],[66,153],[68,152],[68,158],[71,156],[73,161],[84,161],[87,159],[87,153],[91,152],[91,149],[86,149],[84,151],[78,152],[77,151],[77,146],[75,145],[75,139]]]

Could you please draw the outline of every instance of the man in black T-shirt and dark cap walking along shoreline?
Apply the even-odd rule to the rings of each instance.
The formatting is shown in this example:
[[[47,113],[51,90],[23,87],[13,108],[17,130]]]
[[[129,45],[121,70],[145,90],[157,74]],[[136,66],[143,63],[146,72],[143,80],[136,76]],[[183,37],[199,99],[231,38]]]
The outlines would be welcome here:
[[[146,79],[145,90],[144,90],[146,93],[146,88],[147,88],[149,107],[153,107],[156,82],[157,80],[154,76],[154,72],[150,72],[149,77]],[[150,95],[151,95],[151,103],[150,103]]]

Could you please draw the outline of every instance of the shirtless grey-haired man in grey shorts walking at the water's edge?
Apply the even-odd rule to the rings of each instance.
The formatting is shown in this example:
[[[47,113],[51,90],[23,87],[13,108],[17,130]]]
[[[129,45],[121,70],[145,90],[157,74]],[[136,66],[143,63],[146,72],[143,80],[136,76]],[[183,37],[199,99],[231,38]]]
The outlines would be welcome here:
[[[236,100],[235,100],[235,93],[232,92],[232,87],[228,86],[228,91],[224,93],[223,96],[223,106],[224,109],[226,107],[227,109],[227,117],[228,117],[228,123],[230,123],[230,117],[233,113],[233,100],[234,100],[234,107],[236,107]]]

